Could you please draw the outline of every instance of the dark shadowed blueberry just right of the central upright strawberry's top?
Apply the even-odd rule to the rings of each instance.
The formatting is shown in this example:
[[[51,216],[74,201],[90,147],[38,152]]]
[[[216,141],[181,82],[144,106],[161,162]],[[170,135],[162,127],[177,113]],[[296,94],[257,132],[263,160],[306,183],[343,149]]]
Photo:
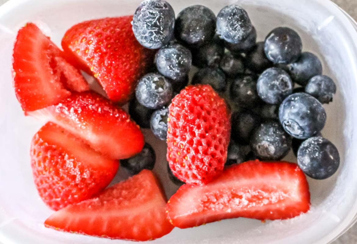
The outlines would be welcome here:
[[[245,75],[232,81],[230,98],[238,106],[252,108],[260,104],[257,94],[257,82],[254,76]]]

